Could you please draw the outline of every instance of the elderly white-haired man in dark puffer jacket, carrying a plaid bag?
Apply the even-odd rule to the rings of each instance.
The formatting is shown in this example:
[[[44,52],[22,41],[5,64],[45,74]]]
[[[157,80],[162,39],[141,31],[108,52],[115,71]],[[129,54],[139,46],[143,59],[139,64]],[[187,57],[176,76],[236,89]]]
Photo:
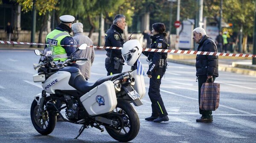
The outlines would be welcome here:
[[[218,52],[215,42],[206,35],[203,28],[193,30],[193,40],[198,45],[198,51]],[[200,104],[201,87],[207,79],[215,80],[218,77],[218,56],[197,55],[196,56],[196,76],[198,79],[198,101]],[[196,122],[212,122],[212,111],[204,111],[199,108],[201,118]]]

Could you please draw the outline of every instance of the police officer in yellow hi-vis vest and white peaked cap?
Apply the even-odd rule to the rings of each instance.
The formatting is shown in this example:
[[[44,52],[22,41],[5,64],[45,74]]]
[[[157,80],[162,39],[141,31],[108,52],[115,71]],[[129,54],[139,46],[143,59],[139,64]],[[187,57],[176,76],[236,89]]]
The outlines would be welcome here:
[[[76,50],[76,47],[73,47],[74,40],[70,35],[72,31],[71,25],[73,24],[75,17],[71,15],[62,15],[59,18],[61,23],[46,36],[46,43],[50,44],[47,45],[47,47],[53,47],[53,52],[55,53],[53,61],[64,62],[67,57]],[[73,56],[76,56],[76,53],[74,53]],[[74,66],[78,67],[77,64],[74,64]]]

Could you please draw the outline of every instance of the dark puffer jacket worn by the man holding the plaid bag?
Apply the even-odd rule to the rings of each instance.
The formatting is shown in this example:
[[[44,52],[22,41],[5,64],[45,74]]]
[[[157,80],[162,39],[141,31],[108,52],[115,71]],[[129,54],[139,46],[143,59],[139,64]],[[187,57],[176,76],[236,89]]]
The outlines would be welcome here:
[[[198,51],[218,52],[215,42],[205,35],[198,46]],[[196,56],[196,76],[218,77],[218,56],[197,55]]]

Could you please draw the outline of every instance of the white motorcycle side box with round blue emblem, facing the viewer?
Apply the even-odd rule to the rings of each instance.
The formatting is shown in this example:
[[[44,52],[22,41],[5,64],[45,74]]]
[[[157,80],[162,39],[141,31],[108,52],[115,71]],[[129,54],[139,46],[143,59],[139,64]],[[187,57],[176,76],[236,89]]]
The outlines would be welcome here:
[[[113,111],[117,104],[113,82],[103,82],[81,96],[80,100],[91,116]]]

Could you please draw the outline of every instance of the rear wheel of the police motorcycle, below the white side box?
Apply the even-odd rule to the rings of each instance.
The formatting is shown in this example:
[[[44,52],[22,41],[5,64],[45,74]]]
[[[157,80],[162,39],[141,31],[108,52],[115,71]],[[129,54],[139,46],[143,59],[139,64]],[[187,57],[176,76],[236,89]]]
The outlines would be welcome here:
[[[117,105],[113,112],[121,113],[122,119],[116,118],[113,120],[119,120],[119,125],[113,128],[106,128],[108,134],[113,139],[120,142],[128,142],[133,140],[140,130],[140,119],[135,109],[130,103],[117,99]]]

